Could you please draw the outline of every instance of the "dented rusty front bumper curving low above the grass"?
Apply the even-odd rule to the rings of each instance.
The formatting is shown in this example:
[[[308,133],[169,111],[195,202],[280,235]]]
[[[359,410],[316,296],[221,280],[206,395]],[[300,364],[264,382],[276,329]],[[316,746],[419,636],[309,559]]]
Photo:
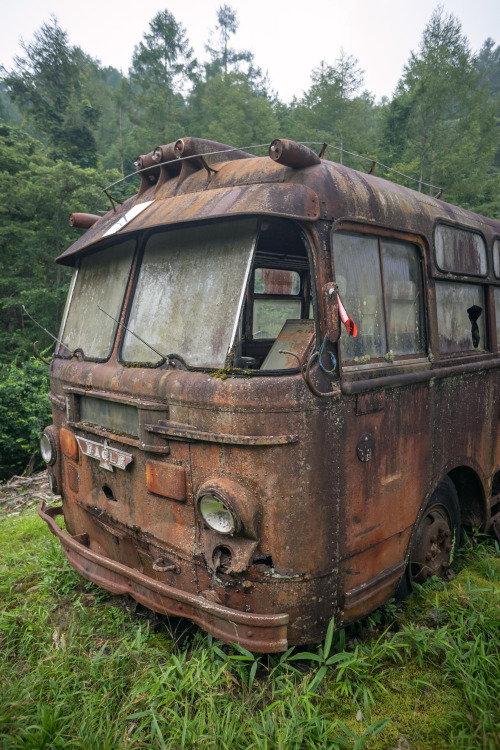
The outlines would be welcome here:
[[[38,515],[57,536],[68,561],[89,581],[114,594],[130,594],[155,612],[186,617],[216,638],[238,643],[254,652],[286,651],[288,615],[258,615],[240,612],[153,580],[127,565],[92,551],[55,522],[61,506],[42,503]]]

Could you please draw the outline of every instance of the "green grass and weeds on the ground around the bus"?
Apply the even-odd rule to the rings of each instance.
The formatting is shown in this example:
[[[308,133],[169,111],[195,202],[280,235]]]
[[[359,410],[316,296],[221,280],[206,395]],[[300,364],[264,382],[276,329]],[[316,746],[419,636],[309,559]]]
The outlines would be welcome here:
[[[1,748],[500,748],[491,539],[451,583],[270,657],[84,581],[32,510],[0,521],[0,566]]]

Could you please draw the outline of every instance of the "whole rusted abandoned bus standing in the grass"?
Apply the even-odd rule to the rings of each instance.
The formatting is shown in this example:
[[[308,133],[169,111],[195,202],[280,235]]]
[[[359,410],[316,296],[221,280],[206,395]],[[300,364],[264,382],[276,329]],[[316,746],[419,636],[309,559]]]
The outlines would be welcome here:
[[[500,223],[285,140],[137,166],[58,258],[71,565],[257,652],[446,576],[500,519]]]

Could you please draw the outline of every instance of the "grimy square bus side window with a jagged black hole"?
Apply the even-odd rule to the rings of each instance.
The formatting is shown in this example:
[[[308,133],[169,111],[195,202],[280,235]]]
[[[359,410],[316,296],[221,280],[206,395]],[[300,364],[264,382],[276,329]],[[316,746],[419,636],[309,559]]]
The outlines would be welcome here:
[[[436,281],[436,306],[442,354],[486,349],[482,286]]]

